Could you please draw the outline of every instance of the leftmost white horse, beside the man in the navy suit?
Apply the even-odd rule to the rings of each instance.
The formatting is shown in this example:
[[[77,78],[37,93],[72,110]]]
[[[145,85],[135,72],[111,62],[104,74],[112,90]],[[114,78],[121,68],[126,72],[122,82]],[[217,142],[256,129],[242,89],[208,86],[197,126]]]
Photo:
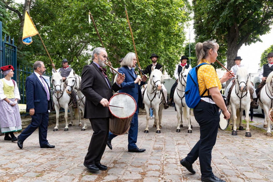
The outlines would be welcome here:
[[[54,102],[54,107],[56,110],[56,126],[53,129],[53,131],[58,131],[59,113],[60,113],[61,107],[65,109],[65,131],[68,131],[67,113],[68,113],[68,109],[69,109],[69,111],[70,111],[70,123],[69,124],[72,124],[72,105],[73,105],[72,103],[73,102],[71,101],[69,104],[70,96],[68,95],[68,93],[65,92],[65,86],[62,81],[61,71],[56,72],[56,73],[52,72],[51,83],[52,83],[53,89],[54,89],[53,102]],[[74,112],[78,113],[77,109],[75,109]],[[78,115],[75,115],[75,117],[77,119]]]

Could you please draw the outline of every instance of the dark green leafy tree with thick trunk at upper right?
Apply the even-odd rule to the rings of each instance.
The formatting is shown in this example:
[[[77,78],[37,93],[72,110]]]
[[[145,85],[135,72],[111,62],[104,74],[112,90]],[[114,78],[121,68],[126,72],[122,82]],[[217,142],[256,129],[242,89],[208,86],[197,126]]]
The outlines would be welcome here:
[[[272,0],[193,0],[193,9],[196,42],[218,42],[228,69],[235,65],[238,49],[261,41],[273,23]]]

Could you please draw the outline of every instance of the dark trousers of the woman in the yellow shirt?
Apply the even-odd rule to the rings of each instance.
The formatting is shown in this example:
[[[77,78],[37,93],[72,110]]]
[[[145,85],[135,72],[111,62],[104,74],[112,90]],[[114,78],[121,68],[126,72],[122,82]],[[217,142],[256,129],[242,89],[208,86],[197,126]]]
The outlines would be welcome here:
[[[216,142],[220,122],[219,108],[216,104],[200,101],[193,109],[193,114],[200,126],[200,140],[195,144],[186,160],[194,163],[199,157],[202,177],[212,177],[211,151]]]

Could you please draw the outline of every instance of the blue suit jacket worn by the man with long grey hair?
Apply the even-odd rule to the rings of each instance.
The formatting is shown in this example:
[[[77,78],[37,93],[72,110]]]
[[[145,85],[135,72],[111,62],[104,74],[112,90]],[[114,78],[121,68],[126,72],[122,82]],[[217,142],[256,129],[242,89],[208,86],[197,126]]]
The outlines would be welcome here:
[[[125,79],[122,82],[121,86],[122,89],[119,90],[119,93],[128,93],[135,99],[135,102],[138,104],[139,107],[142,107],[142,96],[141,96],[141,88],[140,86],[144,85],[145,82],[141,81],[141,84],[134,83],[135,77],[133,76],[132,71],[128,68],[128,66],[121,67],[118,72],[121,74],[125,74]],[[135,75],[137,76],[137,75]]]

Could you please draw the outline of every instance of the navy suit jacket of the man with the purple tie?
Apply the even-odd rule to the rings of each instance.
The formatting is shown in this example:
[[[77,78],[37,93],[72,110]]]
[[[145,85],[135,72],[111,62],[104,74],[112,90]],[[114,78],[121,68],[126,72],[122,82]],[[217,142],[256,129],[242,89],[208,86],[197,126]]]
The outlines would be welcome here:
[[[43,78],[44,79],[44,78]],[[44,82],[48,86],[47,82],[44,79]],[[45,113],[48,110],[52,109],[52,100],[51,100],[51,92],[49,90],[49,103],[47,100],[47,95],[43,84],[40,82],[38,77],[33,73],[28,76],[25,80],[25,92],[27,98],[27,109],[26,112],[29,112],[29,109],[34,108],[35,113]]]

